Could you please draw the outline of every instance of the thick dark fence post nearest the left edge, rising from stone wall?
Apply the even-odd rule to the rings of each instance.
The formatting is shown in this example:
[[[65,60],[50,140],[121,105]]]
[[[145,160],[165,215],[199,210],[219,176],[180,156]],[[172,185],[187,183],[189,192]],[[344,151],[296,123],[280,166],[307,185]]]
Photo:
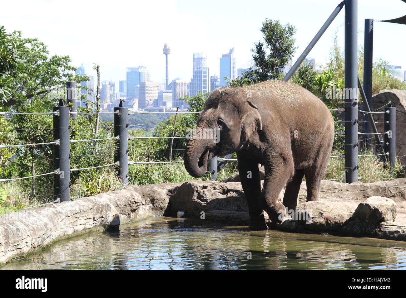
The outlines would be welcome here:
[[[54,107],[54,141],[59,140],[59,144],[53,145],[54,151],[54,200],[60,199],[60,202],[70,201],[70,160],[69,160],[69,107],[63,106],[62,99],[58,107]]]

